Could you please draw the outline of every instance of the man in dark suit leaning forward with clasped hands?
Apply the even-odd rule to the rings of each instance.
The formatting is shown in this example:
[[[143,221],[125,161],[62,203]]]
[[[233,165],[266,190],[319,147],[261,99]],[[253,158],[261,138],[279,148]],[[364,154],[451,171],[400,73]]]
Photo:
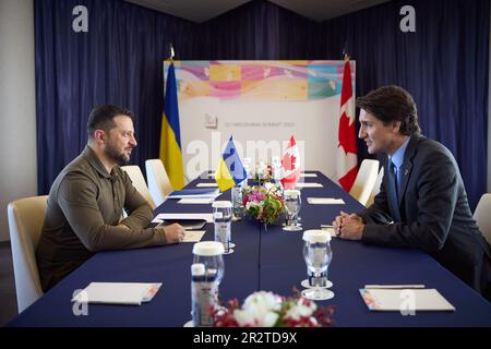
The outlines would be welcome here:
[[[452,153],[420,134],[416,104],[398,86],[372,91],[357,106],[359,137],[369,154],[385,155],[384,179],[372,206],[336,217],[336,234],[422,249],[491,300],[491,246],[472,219]]]

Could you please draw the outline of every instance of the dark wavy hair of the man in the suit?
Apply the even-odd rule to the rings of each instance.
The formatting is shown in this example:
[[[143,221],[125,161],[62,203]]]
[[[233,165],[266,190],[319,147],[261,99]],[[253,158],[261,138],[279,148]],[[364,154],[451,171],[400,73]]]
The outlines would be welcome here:
[[[385,125],[400,121],[399,132],[404,135],[420,133],[418,110],[415,99],[399,86],[384,86],[357,98],[357,107],[381,120]]]

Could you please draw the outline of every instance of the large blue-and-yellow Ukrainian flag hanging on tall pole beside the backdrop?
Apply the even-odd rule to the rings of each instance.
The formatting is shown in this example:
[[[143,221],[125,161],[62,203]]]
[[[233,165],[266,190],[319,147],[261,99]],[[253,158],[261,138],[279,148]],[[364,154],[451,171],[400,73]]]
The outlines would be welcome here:
[[[173,62],[167,72],[166,97],[160,132],[160,159],[166,167],[170,183],[175,190],[184,186],[182,165],[181,132],[179,128],[179,107],[177,97],[176,72]]]

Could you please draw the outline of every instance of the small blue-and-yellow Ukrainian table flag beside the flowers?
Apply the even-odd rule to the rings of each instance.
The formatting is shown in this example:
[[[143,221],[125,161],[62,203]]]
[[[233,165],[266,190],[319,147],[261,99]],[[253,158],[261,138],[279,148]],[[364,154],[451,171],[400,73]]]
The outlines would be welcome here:
[[[232,137],[228,140],[227,147],[215,171],[215,181],[220,192],[239,184],[248,178]]]

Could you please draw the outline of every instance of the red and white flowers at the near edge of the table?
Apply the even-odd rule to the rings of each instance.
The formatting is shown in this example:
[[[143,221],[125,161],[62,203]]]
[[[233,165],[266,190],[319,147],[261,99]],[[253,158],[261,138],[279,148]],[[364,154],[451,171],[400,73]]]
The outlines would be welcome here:
[[[259,291],[250,294],[242,306],[237,299],[214,312],[216,327],[321,327],[332,325],[328,315],[333,308],[318,305],[297,292],[296,297],[280,297]]]

